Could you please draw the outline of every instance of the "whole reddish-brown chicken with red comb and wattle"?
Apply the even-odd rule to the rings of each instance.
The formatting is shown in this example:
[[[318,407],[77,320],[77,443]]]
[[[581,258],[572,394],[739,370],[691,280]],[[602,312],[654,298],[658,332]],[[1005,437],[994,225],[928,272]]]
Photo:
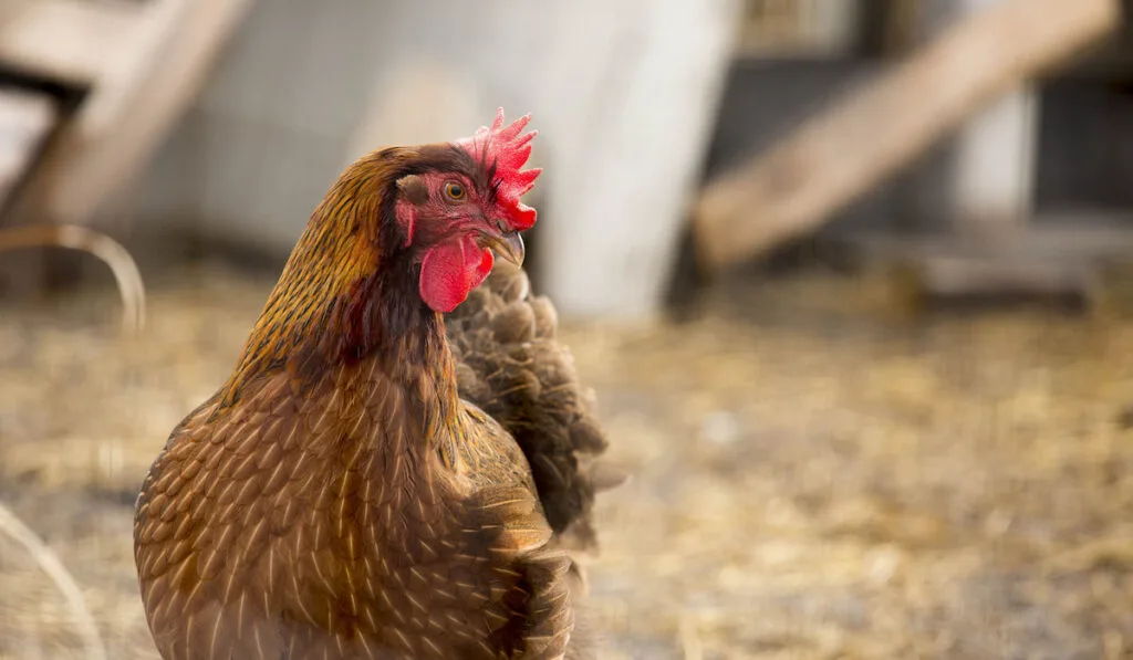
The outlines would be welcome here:
[[[315,209],[138,497],[164,659],[586,657],[566,549],[616,479],[519,268],[527,122],[374,152]]]

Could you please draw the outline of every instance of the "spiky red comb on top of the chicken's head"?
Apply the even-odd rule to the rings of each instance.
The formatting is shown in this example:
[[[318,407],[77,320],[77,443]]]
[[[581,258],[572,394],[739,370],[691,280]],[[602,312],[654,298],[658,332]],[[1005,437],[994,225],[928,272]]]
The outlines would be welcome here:
[[[489,168],[495,163],[496,200],[500,208],[508,214],[512,229],[516,230],[530,229],[535,225],[535,209],[522,204],[519,198],[535,186],[535,179],[543,171],[539,168],[520,171],[531,155],[531,138],[538,134],[537,130],[522,132],[530,120],[531,115],[525,114],[504,126],[503,108],[501,108],[496,110],[492,128],[482,126],[472,137],[457,142],[477,161]]]

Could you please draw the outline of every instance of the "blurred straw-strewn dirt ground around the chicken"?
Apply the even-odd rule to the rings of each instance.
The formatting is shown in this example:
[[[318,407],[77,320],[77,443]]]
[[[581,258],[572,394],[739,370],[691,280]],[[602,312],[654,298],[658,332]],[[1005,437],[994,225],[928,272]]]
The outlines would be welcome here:
[[[271,285],[201,266],[0,301],[0,502],[82,589],[107,657],[153,659],[134,496]],[[835,275],[723,290],[689,325],[569,327],[613,456],[589,618],[610,659],[1133,657],[1133,324],[885,314]],[[0,658],[85,658],[0,534]]]

